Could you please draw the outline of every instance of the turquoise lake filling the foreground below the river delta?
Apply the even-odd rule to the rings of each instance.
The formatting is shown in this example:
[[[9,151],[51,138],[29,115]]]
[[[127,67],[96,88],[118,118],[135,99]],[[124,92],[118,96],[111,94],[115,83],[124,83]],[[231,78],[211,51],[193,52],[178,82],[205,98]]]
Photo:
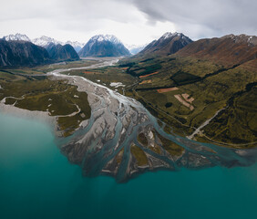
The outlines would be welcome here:
[[[257,218],[257,165],[85,178],[51,129],[0,113],[0,218]]]

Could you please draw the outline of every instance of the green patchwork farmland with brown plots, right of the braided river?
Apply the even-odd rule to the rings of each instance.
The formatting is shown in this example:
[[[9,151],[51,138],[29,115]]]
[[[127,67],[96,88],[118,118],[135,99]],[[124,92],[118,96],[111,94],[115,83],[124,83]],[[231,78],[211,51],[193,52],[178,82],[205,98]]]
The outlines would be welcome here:
[[[138,99],[175,133],[190,136],[221,110],[194,139],[231,147],[256,146],[252,125],[257,114],[253,101],[257,97],[256,60],[224,68],[208,60],[173,55],[130,58],[122,60],[120,67],[139,78],[137,85],[126,89],[126,95]],[[146,79],[150,82],[144,82]]]

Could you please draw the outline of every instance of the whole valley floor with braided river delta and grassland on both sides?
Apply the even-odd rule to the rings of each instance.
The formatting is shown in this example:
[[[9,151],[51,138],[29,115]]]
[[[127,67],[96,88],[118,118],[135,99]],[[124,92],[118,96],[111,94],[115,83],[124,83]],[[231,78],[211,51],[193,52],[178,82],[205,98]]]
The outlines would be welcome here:
[[[179,63],[184,62],[184,68],[189,68],[186,63],[192,66],[191,63],[196,62],[188,58],[169,58],[173,62],[175,60],[179,60]],[[10,106],[10,109],[15,107],[45,111],[47,117],[52,118],[56,124],[57,144],[70,162],[81,166],[85,175],[108,174],[114,176],[120,183],[127,182],[145,171],[158,169],[175,171],[181,167],[202,168],[217,164],[231,166],[235,160],[236,165],[249,165],[254,161],[256,153],[254,142],[234,144],[229,135],[225,141],[221,141],[219,139],[221,137],[216,132],[213,133],[215,131],[213,128],[212,132],[207,132],[211,126],[223,125],[223,129],[230,129],[232,133],[231,127],[219,122],[219,117],[222,116],[220,113],[193,135],[193,139],[197,141],[190,140],[193,131],[197,130],[205,120],[213,117],[217,110],[226,107],[227,99],[218,101],[211,99],[209,102],[204,99],[204,91],[207,91],[212,98],[216,95],[218,99],[221,95],[214,89],[215,93],[210,96],[213,89],[202,87],[202,83],[216,84],[217,82],[211,81],[210,78],[217,74],[209,77],[208,82],[206,79],[193,82],[195,78],[191,79],[190,73],[184,74],[185,76],[180,73],[181,79],[177,77],[176,87],[172,87],[175,77],[167,74],[169,72],[167,69],[170,68],[167,65],[169,62],[163,62],[162,58],[133,60],[135,63],[133,66],[127,63],[126,59],[117,62],[118,58],[109,60],[97,58],[70,62],[67,65],[25,68],[22,73],[12,69],[3,70],[0,80],[1,104]],[[126,68],[126,65],[130,69]],[[134,65],[137,68],[133,74],[140,71],[145,78],[129,74]],[[205,74],[200,72],[198,77],[204,78],[210,74],[207,73],[210,72],[210,67],[214,72],[219,71],[219,66],[209,62],[200,62],[199,66],[200,69],[208,66],[208,70],[206,69]],[[159,68],[158,73],[156,68]],[[196,71],[197,68],[192,69]],[[153,71],[156,74],[152,74]],[[178,71],[180,72],[177,69]],[[222,70],[223,72],[225,71]],[[156,81],[160,81],[159,74],[164,73],[167,79],[161,79],[161,87],[150,87],[152,84],[155,85]],[[255,79],[254,75],[251,78],[248,74],[248,77],[246,85],[251,79]],[[149,82],[142,83],[146,78]],[[228,78],[229,81],[231,78]],[[198,83],[200,85],[196,86]],[[228,97],[231,97],[230,95],[233,95],[237,89],[236,85],[231,88],[235,89],[228,91]],[[247,95],[248,91],[253,93]],[[236,106],[247,100],[245,96],[250,98],[249,107],[252,108],[251,97],[254,97],[254,85],[242,92],[242,95],[238,93],[235,96]],[[204,103],[205,106],[201,107]],[[231,110],[231,106],[221,111],[228,113],[227,110]],[[254,114],[254,106],[252,110]],[[248,131],[247,140],[255,141],[254,133],[251,132],[255,124],[254,122],[250,124],[248,130],[245,128],[242,130],[242,134]],[[216,136],[215,139],[209,138],[208,134],[211,137],[216,134],[218,138]],[[237,138],[239,136],[237,134]],[[222,147],[216,146],[220,144],[216,143],[216,140],[221,141]]]

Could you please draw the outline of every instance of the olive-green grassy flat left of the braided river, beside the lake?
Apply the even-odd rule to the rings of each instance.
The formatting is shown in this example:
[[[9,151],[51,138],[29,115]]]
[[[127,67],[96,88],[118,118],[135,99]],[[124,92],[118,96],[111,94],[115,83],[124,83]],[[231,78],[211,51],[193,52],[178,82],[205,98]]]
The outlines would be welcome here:
[[[78,92],[75,86],[67,85],[64,80],[50,80],[44,75],[34,78],[8,72],[0,71],[0,100],[5,98],[5,104],[24,110],[47,111],[49,116],[57,116],[59,129],[65,137],[72,134],[80,122],[90,118],[87,93]],[[73,115],[74,112],[77,113]]]

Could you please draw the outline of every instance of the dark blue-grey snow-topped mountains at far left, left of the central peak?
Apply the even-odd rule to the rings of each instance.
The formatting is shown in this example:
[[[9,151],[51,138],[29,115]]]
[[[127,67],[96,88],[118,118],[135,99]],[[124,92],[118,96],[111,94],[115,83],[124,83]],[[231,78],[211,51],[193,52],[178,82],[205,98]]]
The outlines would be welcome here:
[[[46,40],[49,44],[44,44]],[[37,46],[28,40],[25,35],[4,36],[0,39],[0,67],[24,67],[50,64],[60,61],[79,60],[76,50],[69,44],[64,46],[54,41],[52,38],[43,37],[36,39],[40,45]]]

